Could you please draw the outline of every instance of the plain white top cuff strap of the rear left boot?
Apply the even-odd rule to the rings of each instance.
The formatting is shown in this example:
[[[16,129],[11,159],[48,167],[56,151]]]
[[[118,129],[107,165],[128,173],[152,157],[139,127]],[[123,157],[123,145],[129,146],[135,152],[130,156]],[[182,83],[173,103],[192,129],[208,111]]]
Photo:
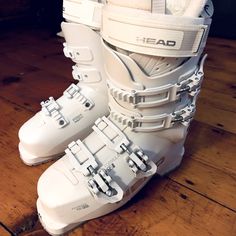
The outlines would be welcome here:
[[[85,24],[99,30],[101,28],[102,3],[90,0],[64,0],[63,17],[67,21]]]

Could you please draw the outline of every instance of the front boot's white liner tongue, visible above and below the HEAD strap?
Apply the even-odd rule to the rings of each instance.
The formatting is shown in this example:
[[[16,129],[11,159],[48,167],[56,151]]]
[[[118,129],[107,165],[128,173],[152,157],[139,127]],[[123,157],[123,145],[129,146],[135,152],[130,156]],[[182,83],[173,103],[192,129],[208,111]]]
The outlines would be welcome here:
[[[108,2],[112,5],[151,11],[153,14],[160,14],[161,12],[176,16],[190,16],[192,14],[195,17],[201,13],[203,9],[202,4],[203,2],[205,4],[206,0],[194,0],[194,3],[193,0],[108,0]],[[200,8],[201,10],[199,11]],[[172,71],[187,59],[155,57],[127,52],[119,48],[117,48],[117,51],[129,55],[148,76],[162,75]]]

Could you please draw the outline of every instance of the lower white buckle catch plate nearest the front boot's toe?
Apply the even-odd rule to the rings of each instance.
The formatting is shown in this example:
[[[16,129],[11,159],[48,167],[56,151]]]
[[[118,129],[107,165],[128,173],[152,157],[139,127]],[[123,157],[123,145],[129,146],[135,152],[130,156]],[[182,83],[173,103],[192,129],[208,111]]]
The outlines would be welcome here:
[[[81,171],[84,176],[95,174],[98,163],[93,154],[80,140],[70,143],[65,153],[68,155],[75,168]]]

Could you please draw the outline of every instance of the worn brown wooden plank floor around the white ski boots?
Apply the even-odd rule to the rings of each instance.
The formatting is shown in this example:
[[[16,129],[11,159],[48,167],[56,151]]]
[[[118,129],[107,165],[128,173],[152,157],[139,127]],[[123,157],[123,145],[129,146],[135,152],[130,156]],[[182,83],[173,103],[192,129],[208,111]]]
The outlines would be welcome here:
[[[206,78],[181,167],[154,177],[122,209],[69,233],[80,235],[236,235],[236,42],[208,41]],[[36,184],[50,163],[27,167],[17,132],[50,95],[72,82],[62,39],[40,30],[0,35],[0,235],[48,235]],[[10,233],[11,232],[11,233]]]

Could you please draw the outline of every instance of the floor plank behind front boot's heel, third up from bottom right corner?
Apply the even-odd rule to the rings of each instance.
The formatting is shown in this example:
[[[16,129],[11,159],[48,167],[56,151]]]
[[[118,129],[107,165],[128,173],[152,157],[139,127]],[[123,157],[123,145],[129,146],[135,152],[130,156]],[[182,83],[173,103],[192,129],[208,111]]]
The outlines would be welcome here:
[[[186,140],[187,157],[236,174],[236,135],[193,121]]]

